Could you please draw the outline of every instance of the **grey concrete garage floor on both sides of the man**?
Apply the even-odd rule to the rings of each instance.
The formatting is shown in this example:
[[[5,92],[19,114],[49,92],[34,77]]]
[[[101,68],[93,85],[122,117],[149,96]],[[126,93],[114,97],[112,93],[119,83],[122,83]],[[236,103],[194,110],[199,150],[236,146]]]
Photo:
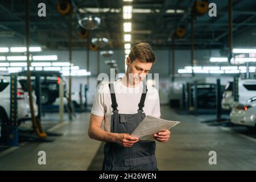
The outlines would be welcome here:
[[[181,123],[171,130],[168,143],[157,143],[159,170],[255,170],[256,134],[245,127],[208,126],[200,121],[213,115],[178,114],[161,106],[162,118]],[[55,117],[53,117],[55,116]],[[87,135],[90,113],[77,114],[72,122],[57,124],[51,131],[63,133],[53,142],[22,142],[0,153],[0,170],[100,170],[102,143]],[[38,164],[38,152],[46,151],[46,165]],[[217,164],[210,165],[209,151],[217,152]]]

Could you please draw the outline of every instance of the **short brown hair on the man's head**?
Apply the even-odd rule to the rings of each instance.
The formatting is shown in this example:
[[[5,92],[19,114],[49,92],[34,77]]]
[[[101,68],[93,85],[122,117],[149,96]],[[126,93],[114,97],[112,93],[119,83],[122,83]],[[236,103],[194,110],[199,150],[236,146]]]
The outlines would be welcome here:
[[[131,63],[133,63],[135,59],[153,64],[156,61],[155,53],[152,51],[152,48],[148,43],[139,43],[131,48],[129,58],[131,60]]]

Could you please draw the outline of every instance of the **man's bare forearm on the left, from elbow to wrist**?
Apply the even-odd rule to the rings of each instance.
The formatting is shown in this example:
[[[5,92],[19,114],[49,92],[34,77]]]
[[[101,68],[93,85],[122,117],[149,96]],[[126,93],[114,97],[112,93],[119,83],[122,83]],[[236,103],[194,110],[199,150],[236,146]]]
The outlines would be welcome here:
[[[115,142],[118,139],[117,133],[110,133],[102,130],[97,126],[90,126],[88,135],[90,138],[100,140],[102,142]]]

